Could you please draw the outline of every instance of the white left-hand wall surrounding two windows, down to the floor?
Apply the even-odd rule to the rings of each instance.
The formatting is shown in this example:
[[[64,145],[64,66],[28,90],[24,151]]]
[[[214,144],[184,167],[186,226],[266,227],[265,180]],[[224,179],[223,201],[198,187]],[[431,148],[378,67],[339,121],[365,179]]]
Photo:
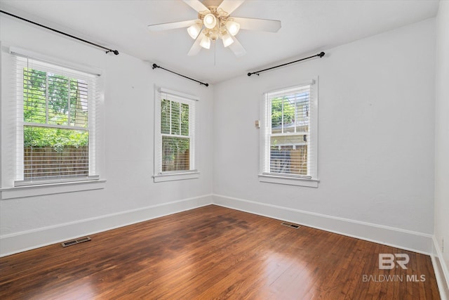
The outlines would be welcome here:
[[[7,46],[19,46],[103,71],[107,179],[102,190],[0,200],[1,255],[211,202],[213,86],[152,70],[149,63],[126,53],[106,55],[5,15],[1,15],[0,38],[2,63],[9,59]],[[3,107],[14,101],[6,93],[10,78],[6,65],[1,70]],[[199,179],[153,183],[154,86],[201,98],[196,114]],[[11,151],[7,145],[2,147]]]

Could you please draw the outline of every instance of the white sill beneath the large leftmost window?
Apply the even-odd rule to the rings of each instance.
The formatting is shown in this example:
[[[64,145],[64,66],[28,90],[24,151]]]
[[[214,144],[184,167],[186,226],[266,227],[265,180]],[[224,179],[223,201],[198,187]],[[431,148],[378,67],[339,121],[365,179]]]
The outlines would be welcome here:
[[[82,190],[100,190],[105,188],[105,180],[74,181],[65,183],[47,183],[39,185],[21,185],[14,188],[1,188],[1,199],[34,197],[61,193],[73,193]]]

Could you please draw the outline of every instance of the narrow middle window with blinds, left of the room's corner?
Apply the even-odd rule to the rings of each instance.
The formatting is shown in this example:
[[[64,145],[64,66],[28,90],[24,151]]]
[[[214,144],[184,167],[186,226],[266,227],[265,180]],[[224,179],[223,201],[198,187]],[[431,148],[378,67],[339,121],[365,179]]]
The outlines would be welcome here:
[[[194,164],[197,99],[165,89],[156,95],[154,181],[198,178]]]

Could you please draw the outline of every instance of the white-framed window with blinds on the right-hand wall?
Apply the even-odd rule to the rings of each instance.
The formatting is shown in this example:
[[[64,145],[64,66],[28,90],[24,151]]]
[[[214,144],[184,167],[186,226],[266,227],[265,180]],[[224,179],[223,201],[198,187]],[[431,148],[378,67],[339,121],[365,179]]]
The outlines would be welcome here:
[[[260,181],[317,185],[316,81],[264,94]]]

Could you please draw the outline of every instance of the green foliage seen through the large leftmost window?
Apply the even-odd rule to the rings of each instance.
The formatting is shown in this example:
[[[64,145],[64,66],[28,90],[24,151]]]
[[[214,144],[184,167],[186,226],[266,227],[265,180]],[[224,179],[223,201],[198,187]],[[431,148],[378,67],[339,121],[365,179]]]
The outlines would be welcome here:
[[[23,70],[24,147],[87,146],[87,83],[30,68]],[[56,125],[56,128],[39,126]],[[78,129],[58,128],[74,126]]]

